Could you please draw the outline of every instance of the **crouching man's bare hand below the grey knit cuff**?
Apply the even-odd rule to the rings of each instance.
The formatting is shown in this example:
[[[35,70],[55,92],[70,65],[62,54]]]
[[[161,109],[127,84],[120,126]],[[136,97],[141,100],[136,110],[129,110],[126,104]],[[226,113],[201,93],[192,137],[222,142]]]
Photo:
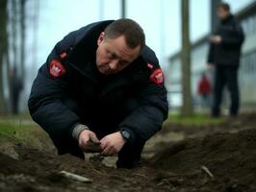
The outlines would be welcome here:
[[[94,132],[84,130],[80,132],[78,137],[79,147],[84,152],[101,152],[100,141]]]

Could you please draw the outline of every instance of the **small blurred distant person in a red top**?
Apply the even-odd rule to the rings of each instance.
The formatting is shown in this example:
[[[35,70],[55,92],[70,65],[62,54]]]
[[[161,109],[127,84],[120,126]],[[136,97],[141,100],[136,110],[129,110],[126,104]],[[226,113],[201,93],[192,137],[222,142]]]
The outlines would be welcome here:
[[[198,82],[197,93],[200,96],[200,107],[209,108],[211,106],[212,84],[205,74],[202,74]]]

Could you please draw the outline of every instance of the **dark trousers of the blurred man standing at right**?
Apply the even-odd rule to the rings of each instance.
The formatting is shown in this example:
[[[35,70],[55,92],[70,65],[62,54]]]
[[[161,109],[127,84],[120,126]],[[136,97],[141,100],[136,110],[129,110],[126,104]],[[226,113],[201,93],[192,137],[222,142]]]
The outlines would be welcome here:
[[[222,92],[225,85],[230,92],[231,106],[230,115],[235,116],[239,112],[240,97],[238,86],[238,68],[236,66],[217,65],[214,87],[213,116],[219,116],[222,101]]]

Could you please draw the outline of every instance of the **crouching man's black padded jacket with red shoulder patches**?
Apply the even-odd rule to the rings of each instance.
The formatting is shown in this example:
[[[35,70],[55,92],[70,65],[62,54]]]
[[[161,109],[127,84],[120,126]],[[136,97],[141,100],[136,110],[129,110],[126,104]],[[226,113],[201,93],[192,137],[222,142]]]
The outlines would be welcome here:
[[[68,151],[68,146],[76,145],[72,131],[78,123],[89,128],[116,126],[130,132],[132,140],[147,140],[161,129],[167,117],[166,87],[152,81],[160,66],[148,47],[137,60],[115,75],[105,77],[97,71],[96,41],[112,22],[92,23],[71,32],[56,44],[38,70],[28,107],[60,154]],[[50,74],[52,60],[64,65],[62,77]],[[75,101],[79,109],[68,108],[65,105],[68,100]]]

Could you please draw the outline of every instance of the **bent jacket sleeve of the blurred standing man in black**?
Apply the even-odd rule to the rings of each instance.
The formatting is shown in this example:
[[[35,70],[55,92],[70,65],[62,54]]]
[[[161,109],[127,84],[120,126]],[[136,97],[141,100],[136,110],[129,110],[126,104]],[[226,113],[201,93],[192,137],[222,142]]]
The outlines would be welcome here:
[[[221,38],[223,45],[241,46],[244,40],[243,28],[239,24],[234,24],[229,33],[224,33]]]

